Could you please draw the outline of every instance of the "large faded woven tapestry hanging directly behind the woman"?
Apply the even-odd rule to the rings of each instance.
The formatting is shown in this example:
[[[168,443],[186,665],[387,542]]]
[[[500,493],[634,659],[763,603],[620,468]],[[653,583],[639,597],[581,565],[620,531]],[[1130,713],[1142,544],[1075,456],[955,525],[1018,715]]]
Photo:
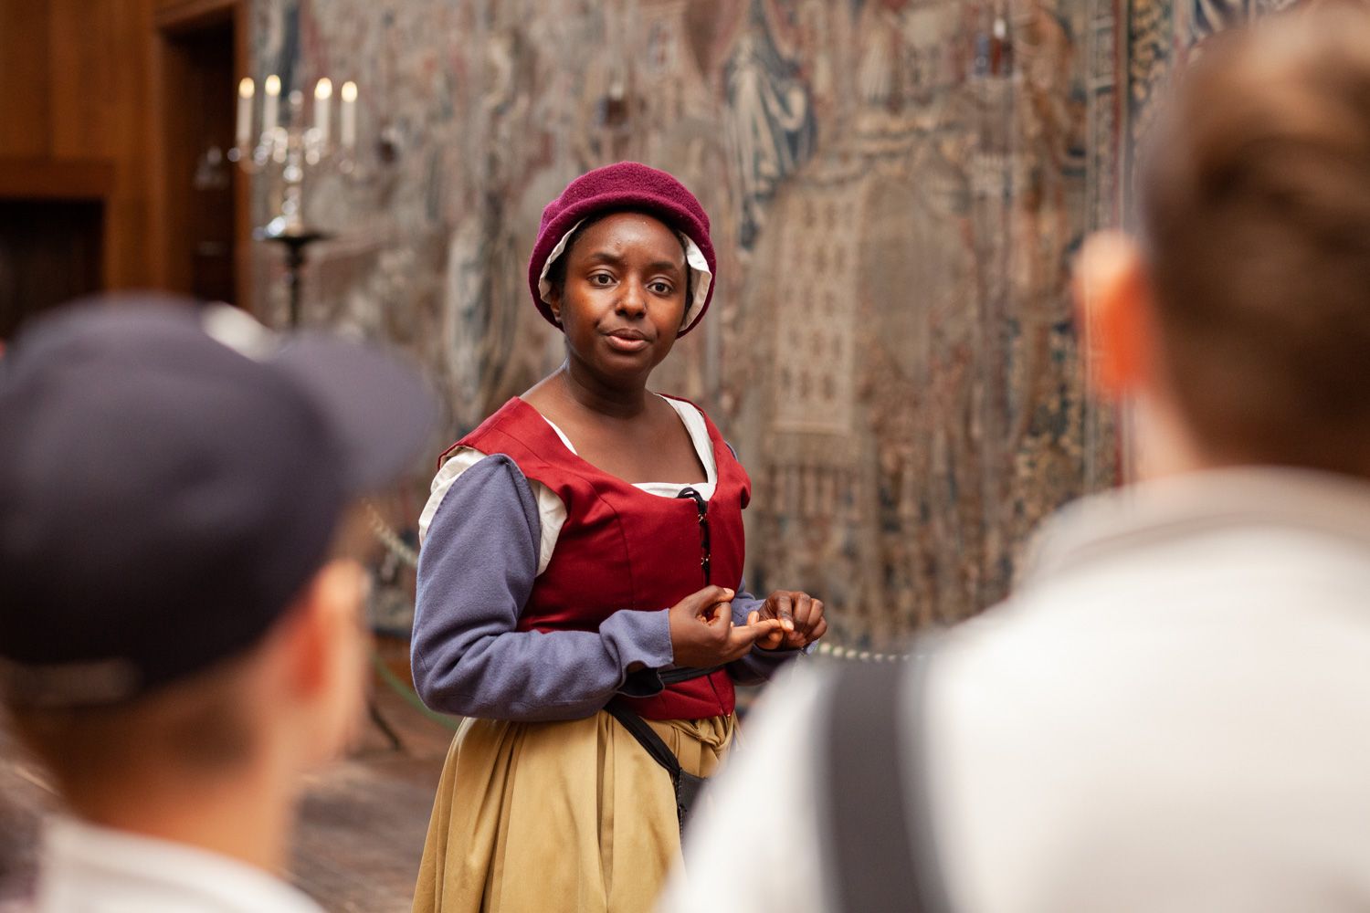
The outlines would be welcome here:
[[[838,642],[896,645],[1000,598],[1038,520],[1114,478],[1067,296],[1097,223],[1092,16],[259,0],[256,75],[362,86],[356,172],[307,189],[336,238],[306,319],[410,349],[455,438],[562,359],[525,281],[543,205],[616,159],[671,171],[712,218],[719,275],[656,387],[699,401],[752,475],[754,589],[807,589]]]

